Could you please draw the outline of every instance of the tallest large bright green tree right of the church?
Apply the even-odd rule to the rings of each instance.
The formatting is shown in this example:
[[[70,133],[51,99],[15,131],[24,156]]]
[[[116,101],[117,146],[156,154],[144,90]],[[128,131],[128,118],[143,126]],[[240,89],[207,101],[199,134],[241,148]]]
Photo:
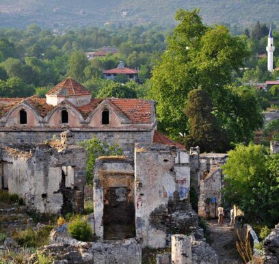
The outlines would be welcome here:
[[[245,109],[239,104],[240,95],[228,85],[232,83],[233,72],[243,67],[244,58],[248,56],[243,40],[230,35],[224,26],[204,25],[198,10],[179,10],[176,20],[179,23],[168,40],[168,48],[152,71],[150,98],[158,102],[159,129],[174,138],[179,132],[187,132],[187,117],[183,113],[187,95],[189,91],[201,88],[208,92],[217,122],[225,131],[229,130],[229,135],[238,135],[239,126],[234,128],[231,124],[237,122],[239,116],[241,122],[255,119],[254,127],[245,128],[245,134],[240,133],[251,137],[252,131],[262,124],[258,109],[255,107],[249,115],[242,114],[241,110]],[[252,98],[248,99],[252,101]],[[233,137],[231,140],[243,142],[248,138]]]

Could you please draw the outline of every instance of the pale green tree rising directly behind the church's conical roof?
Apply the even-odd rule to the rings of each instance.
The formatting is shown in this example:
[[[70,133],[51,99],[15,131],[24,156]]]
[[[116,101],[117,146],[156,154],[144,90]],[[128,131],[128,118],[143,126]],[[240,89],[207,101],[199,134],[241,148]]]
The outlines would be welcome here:
[[[84,69],[88,65],[88,60],[82,51],[74,51],[68,61],[68,76],[83,81],[85,79]]]

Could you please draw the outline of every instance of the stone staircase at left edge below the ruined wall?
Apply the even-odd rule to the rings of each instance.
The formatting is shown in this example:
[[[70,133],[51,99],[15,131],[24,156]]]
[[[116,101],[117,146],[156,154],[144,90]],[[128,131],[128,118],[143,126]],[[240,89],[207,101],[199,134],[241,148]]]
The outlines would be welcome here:
[[[33,219],[27,215],[27,208],[20,207],[7,207],[0,208],[0,226],[1,230],[5,230],[7,235],[10,235],[13,230],[24,230],[27,227],[34,227]],[[0,231],[1,231],[0,230]]]

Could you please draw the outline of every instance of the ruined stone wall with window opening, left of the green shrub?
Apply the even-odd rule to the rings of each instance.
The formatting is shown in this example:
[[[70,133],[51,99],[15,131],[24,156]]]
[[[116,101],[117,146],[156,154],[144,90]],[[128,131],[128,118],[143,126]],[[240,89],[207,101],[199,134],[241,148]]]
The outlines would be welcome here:
[[[29,209],[40,213],[83,211],[85,150],[59,144],[60,148],[49,144],[10,144],[1,148],[8,190],[21,196]]]

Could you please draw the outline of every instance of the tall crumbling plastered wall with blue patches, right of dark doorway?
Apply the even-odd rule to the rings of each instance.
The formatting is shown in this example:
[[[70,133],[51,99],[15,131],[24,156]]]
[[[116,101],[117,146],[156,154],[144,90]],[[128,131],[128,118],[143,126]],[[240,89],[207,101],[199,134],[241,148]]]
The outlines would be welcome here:
[[[136,144],[135,228],[143,247],[163,248],[168,234],[196,227],[189,188],[189,153],[173,146]]]

